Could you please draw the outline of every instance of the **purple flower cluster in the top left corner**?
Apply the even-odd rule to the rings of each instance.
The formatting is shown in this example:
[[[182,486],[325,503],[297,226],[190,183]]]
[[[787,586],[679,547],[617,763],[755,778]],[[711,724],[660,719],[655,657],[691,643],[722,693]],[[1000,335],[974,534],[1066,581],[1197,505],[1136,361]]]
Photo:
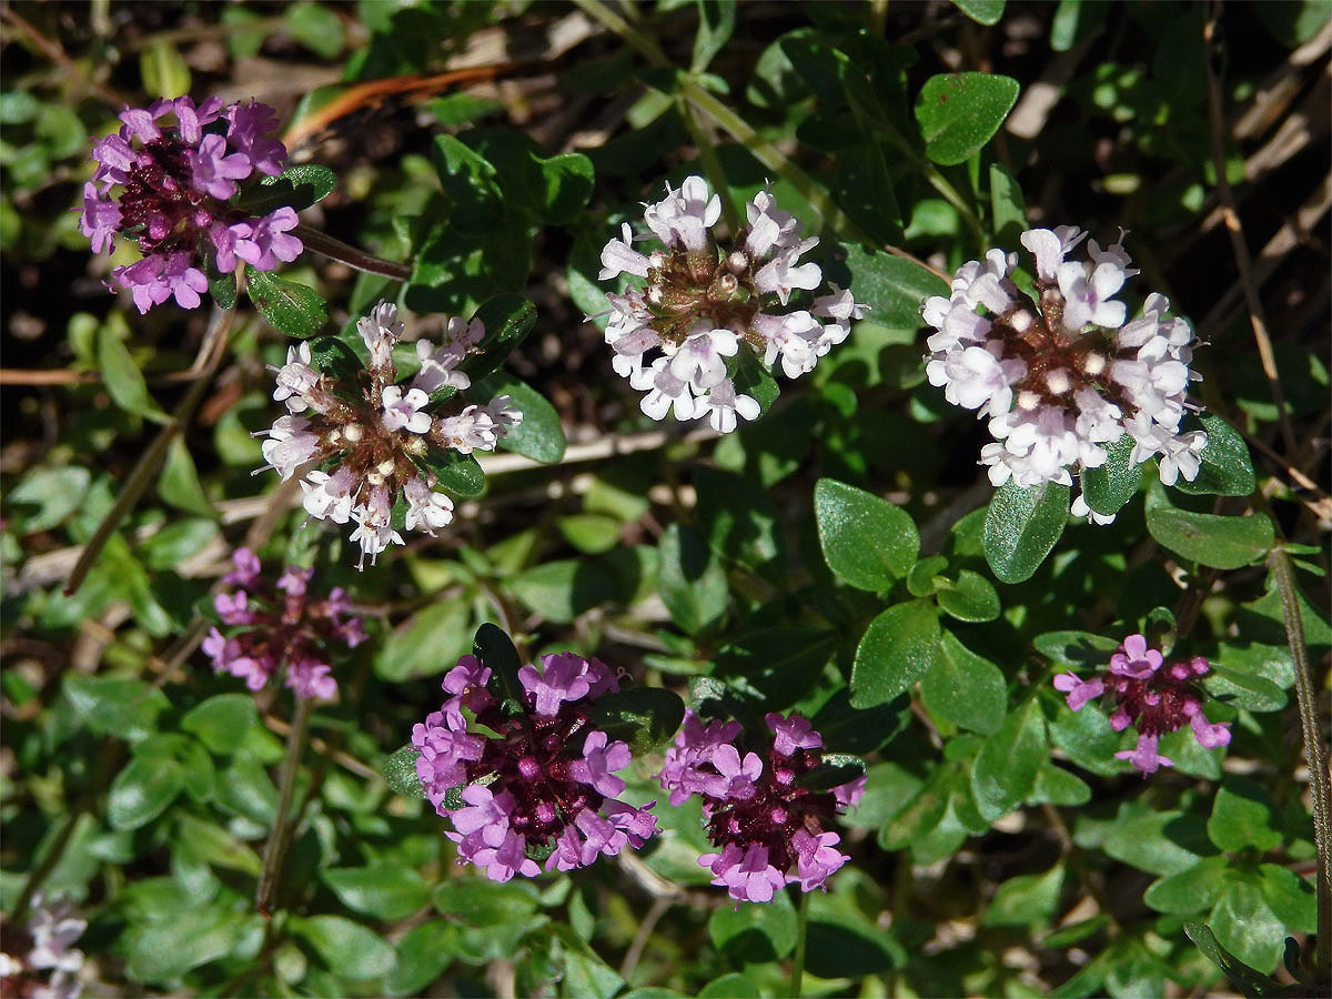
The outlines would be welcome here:
[[[93,147],[97,169],[84,185],[80,221],[95,253],[109,253],[117,234],[139,242],[143,260],[111,273],[140,312],[172,297],[184,309],[197,306],[208,257],[224,274],[237,261],[272,270],[278,260],[296,260],[296,212],[282,206],[252,217],[232,205],[242,181],[276,177],[286,163],[286,147],[272,137],[270,107],[220,97],[196,107],[176,97],[127,108],[120,120],[120,131]]]

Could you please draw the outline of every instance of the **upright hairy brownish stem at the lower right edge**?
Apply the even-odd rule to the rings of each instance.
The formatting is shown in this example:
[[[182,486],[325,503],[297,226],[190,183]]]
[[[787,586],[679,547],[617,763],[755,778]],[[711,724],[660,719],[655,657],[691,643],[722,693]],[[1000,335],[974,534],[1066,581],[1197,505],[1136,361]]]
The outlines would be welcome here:
[[[1277,545],[1267,557],[1267,565],[1276,578],[1281,597],[1281,615],[1285,619],[1285,641],[1295,663],[1295,697],[1300,707],[1300,727],[1304,730],[1304,759],[1309,769],[1309,793],[1313,798],[1313,848],[1317,854],[1319,935],[1313,955],[1315,976],[1327,982],[1332,976],[1332,782],[1328,779],[1327,743],[1319,721],[1317,686],[1309,666],[1309,653],[1304,645],[1304,622],[1300,615],[1300,591],[1295,583],[1291,555]]]

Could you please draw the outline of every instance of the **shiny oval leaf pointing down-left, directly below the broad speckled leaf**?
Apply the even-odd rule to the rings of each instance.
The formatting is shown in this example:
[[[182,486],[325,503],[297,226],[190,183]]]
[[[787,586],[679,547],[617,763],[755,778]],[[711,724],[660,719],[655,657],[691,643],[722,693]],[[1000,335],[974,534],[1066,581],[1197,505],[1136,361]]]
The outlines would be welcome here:
[[[851,705],[874,707],[907,690],[936,662],[939,642],[939,614],[928,601],[884,610],[855,647]]]

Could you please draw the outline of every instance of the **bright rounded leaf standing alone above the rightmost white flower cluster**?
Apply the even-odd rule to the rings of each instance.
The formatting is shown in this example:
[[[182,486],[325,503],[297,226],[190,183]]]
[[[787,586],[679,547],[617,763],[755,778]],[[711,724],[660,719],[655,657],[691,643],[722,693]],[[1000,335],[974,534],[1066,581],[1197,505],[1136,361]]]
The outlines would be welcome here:
[[[951,166],[980,152],[1018,101],[1018,81],[996,73],[943,73],[920,89],[915,116],[926,155]]]

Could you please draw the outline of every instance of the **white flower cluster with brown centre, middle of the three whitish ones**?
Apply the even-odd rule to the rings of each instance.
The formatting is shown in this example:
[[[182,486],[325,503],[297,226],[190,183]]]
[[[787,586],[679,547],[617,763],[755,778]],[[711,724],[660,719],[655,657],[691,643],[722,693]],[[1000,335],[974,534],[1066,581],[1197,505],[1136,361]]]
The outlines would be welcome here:
[[[678,190],[667,184],[665,200],[643,212],[663,249],[639,253],[625,222],[621,238],[601,252],[602,281],[625,273],[646,282],[607,296],[606,342],[615,350],[615,372],[647,392],[641,405],[653,420],[667,412],[677,420],[706,416],[730,433],[737,414],[753,420],[759,413],[758,401],[735,386],[742,348],[765,366],[781,358],[786,376],[797,378],[864,314],[836,285],[807,309],[790,308],[798,290],[823,284],[818,264],[798,262],[818,240],[801,238],[801,224],[767,190],[745,210],[749,224],[730,246],[721,246],[713,232],[721,198],[702,177],[687,177]],[[661,354],[646,360],[653,350]]]

